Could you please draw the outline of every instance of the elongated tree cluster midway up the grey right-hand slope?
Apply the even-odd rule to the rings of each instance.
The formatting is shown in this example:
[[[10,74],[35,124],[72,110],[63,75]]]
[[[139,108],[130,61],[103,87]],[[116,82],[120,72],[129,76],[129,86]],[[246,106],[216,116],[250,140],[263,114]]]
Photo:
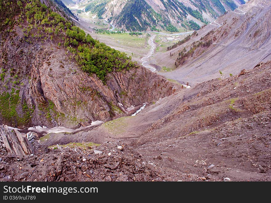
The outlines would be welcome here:
[[[186,51],[186,48],[179,52],[179,57],[175,60],[175,66],[178,67],[180,65],[183,65],[186,61],[186,59],[190,56],[192,56],[198,47],[209,47],[212,44],[212,39],[208,40],[207,42],[199,42],[199,43],[193,43],[193,47],[190,48],[189,51]]]

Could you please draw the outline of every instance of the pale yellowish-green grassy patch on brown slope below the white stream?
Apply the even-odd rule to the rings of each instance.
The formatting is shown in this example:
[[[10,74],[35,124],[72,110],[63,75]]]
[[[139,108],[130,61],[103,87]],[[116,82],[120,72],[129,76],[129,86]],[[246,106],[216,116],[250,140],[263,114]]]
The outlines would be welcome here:
[[[118,135],[125,132],[126,128],[128,127],[128,123],[127,123],[128,119],[129,117],[121,117],[121,118],[103,123],[102,126],[111,134]]]

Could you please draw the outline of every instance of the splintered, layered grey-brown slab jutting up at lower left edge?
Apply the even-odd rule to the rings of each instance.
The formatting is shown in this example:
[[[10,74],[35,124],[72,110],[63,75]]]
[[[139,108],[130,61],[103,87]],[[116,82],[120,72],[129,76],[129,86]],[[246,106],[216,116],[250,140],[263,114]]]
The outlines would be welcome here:
[[[34,153],[32,144],[18,130],[10,130],[6,125],[1,125],[0,132],[7,152],[17,155],[30,155]]]

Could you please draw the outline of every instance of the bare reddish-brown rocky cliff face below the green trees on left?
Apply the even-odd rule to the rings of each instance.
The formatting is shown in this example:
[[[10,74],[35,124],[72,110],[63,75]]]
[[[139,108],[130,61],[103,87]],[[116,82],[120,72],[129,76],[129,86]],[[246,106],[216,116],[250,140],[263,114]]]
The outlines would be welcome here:
[[[18,16],[14,16],[18,18]],[[2,24],[4,25],[4,24]],[[155,102],[179,87],[143,67],[111,72],[103,83],[83,72],[57,40],[27,36],[25,24],[3,26],[0,44],[1,122],[14,126],[63,125],[108,121],[129,108]],[[56,37],[57,38],[57,37]]]

